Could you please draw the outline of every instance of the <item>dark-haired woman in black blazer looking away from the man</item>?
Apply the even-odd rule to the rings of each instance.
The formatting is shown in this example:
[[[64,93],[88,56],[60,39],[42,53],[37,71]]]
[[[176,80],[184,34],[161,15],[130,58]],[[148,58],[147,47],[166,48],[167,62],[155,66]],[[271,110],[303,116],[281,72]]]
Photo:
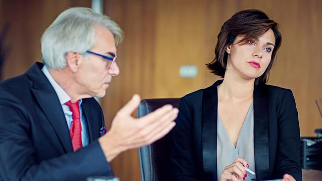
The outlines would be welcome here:
[[[223,24],[207,66],[224,79],[180,99],[175,180],[302,180],[292,91],[266,85],[280,44],[278,24],[262,11],[240,11]]]

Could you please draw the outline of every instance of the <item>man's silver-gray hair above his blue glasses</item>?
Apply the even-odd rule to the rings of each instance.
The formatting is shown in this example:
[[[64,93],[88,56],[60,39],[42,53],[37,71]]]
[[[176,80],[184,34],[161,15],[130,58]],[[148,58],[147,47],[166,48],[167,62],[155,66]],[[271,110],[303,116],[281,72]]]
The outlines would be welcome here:
[[[107,28],[115,44],[123,40],[123,31],[107,15],[91,8],[72,7],[58,15],[41,38],[43,62],[50,69],[66,67],[65,55],[69,51],[86,54],[94,46],[95,24]]]

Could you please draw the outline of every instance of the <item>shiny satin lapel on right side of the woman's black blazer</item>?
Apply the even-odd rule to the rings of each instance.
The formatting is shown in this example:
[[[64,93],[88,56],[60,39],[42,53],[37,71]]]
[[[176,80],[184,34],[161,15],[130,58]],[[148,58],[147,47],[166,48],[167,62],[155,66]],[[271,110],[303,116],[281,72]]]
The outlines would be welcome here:
[[[268,155],[268,89],[266,85],[254,88],[254,153],[257,180],[269,177]]]

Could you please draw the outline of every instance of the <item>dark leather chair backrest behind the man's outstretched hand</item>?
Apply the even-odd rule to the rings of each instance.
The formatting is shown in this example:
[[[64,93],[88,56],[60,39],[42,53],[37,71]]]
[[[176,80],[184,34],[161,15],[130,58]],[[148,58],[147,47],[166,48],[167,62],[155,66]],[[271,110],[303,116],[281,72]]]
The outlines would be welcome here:
[[[178,107],[179,98],[143,99],[138,108],[138,118],[165,104]],[[172,146],[172,131],[170,131],[158,141],[139,148],[142,181],[171,180],[170,153]]]

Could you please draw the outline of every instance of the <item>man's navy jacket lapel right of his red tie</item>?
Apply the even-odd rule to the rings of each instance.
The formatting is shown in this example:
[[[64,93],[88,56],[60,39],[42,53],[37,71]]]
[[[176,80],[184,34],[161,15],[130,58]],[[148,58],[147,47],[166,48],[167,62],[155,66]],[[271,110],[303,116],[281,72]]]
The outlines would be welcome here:
[[[98,138],[100,126],[98,125],[98,121],[93,117],[92,108],[88,99],[83,99],[82,109],[87,122],[89,140],[92,142],[94,139]]]

